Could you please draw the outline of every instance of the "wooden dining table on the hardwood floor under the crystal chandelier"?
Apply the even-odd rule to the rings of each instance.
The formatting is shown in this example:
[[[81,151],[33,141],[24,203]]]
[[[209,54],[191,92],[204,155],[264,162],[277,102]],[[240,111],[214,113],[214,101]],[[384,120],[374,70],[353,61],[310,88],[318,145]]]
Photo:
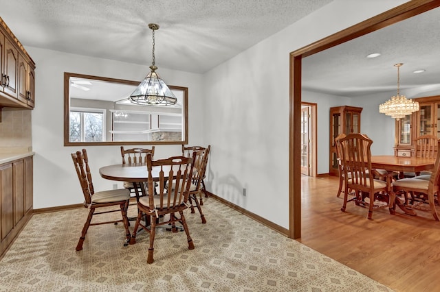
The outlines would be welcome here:
[[[419,173],[434,169],[435,158],[420,158],[415,156],[377,155],[371,156],[371,168],[385,169],[386,171],[398,171],[399,178],[404,178],[404,172]],[[415,216],[415,210],[408,209],[398,197],[395,200],[397,206],[406,214]]]

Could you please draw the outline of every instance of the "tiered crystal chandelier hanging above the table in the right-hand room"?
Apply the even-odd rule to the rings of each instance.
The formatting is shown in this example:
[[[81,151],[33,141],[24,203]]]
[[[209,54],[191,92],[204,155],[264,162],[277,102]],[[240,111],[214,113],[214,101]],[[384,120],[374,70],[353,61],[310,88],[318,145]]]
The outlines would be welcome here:
[[[419,110],[419,103],[412,101],[412,99],[406,99],[405,95],[400,95],[400,75],[399,68],[403,63],[397,63],[394,66],[397,67],[397,95],[391,97],[379,106],[379,112],[391,116],[397,121],[404,118],[406,115]]]

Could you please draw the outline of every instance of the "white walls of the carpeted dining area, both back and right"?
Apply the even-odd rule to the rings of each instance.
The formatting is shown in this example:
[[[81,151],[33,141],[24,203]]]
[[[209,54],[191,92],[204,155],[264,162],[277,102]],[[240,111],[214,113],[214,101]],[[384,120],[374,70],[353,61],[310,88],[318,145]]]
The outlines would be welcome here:
[[[159,68],[168,84],[189,88],[189,143],[212,145],[208,189],[288,228],[289,52],[404,2],[336,0],[204,76]],[[26,49],[37,66],[34,208],[78,204],[83,197],[69,156],[78,147],[63,147],[63,72],[142,80],[148,65]],[[96,188],[111,188],[98,168],[120,161],[118,147],[87,150]],[[157,157],[179,151],[160,146]]]

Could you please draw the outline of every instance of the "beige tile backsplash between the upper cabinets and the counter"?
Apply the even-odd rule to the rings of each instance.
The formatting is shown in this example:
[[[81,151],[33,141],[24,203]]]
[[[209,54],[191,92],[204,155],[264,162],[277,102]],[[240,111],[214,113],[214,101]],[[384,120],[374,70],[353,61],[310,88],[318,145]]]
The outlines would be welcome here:
[[[0,147],[32,148],[32,110],[1,109]]]

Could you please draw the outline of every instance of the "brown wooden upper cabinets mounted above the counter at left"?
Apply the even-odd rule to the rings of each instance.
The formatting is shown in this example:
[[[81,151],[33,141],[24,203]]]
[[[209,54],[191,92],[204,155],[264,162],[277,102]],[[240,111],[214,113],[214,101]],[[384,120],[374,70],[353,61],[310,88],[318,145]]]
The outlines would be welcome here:
[[[0,18],[0,107],[34,108],[35,63]]]

